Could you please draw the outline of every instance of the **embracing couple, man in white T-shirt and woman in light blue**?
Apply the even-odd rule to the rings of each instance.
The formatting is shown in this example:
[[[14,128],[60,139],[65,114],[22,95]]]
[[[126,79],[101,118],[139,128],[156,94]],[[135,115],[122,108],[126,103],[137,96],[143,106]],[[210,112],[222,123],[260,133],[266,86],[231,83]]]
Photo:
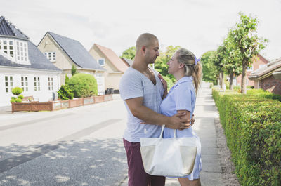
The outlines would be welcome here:
[[[127,127],[123,141],[128,161],[129,186],[164,186],[165,177],[145,173],[141,158],[141,138],[159,137],[165,124],[163,138],[192,137],[200,139],[192,131],[192,114],[196,93],[202,79],[202,66],[195,55],[181,48],[167,62],[169,74],[176,84],[167,91],[166,81],[149,64],[159,56],[159,41],[153,34],[141,34],[136,41],[133,65],[124,73],[120,82],[120,95],[128,111]],[[197,155],[192,173],[178,178],[181,186],[201,185],[201,150]]]

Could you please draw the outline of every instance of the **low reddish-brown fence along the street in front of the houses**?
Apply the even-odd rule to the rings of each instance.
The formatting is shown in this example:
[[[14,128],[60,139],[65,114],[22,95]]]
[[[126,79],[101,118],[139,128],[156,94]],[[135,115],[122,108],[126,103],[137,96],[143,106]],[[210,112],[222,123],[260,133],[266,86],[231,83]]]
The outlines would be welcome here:
[[[17,111],[53,111],[64,108],[79,107],[83,105],[90,105],[98,102],[105,102],[113,100],[112,95],[99,95],[89,98],[77,98],[73,100],[56,100],[50,102],[13,102],[12,113]]]

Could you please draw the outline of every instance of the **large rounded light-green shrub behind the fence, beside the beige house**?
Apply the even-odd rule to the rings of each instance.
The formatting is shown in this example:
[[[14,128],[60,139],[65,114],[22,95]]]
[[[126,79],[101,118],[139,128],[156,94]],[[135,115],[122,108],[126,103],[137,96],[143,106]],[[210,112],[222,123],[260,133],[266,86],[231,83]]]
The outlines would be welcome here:
[[[98,94],[98,85],[91,74],[74,74],[68,81],[75,98],[86,98]]]

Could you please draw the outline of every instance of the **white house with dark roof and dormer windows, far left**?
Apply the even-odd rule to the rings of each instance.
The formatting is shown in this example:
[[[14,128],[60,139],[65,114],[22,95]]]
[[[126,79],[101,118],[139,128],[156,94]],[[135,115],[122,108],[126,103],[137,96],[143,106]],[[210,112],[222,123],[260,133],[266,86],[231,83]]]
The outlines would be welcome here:
[[[53,100],[60,73],[20,29],[0,17],[0,107],[11,105],[15,86],[40,102]]]

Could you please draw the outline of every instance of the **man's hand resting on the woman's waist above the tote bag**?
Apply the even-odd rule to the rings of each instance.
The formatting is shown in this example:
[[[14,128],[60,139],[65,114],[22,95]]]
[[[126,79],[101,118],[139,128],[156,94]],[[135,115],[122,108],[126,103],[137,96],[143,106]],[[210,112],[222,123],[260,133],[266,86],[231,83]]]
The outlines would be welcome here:
[[[185,128],[189,128],[191,124],[189,124],[190,119],[185,119],[186,112],[179,112],[174,114],[174,116],[170,117],[168,124],[166,127],[172,129],[183,130]]]

